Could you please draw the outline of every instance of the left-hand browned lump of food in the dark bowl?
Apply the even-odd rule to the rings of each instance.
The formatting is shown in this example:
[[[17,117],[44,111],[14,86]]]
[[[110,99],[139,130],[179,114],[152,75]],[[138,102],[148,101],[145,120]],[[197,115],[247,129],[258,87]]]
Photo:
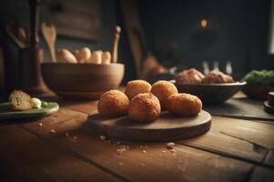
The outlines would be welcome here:
[[[176,76],[179,84],[199,84],[205,76],[195,68],[184,70]]]

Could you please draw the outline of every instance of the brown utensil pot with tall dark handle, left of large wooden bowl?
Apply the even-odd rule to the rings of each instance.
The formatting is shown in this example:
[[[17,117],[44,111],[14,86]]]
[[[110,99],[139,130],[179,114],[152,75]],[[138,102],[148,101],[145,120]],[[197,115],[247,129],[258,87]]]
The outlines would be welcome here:
[[[43,49],[39,46],[39,0],[28,0],[30,17],[29,46],[19,51],[20,89],[31,95],[46,93],[41,76],[40,63],[44,60]],[[25,37],[28,37],[26,32]]]

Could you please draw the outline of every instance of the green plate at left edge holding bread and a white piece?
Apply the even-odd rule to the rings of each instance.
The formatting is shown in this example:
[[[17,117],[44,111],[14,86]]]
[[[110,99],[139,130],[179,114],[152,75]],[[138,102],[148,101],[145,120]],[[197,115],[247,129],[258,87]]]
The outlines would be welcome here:
[[[14,111],[10,108],[9,103],[0,104],[0,119],[14,118],[36,118],[43,117],[58,111],[59,106],[55,102],[47,102],[47,106],[39,109],[30,109],[25,111]]]

